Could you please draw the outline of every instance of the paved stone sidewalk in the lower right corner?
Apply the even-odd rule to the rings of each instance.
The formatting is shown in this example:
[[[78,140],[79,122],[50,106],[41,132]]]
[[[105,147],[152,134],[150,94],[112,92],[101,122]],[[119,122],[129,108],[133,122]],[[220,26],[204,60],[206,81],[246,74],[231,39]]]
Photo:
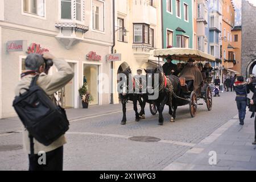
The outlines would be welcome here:
[[[244,126],[236,115],[163,170],[255,171],[254,118],[250,115],[247,112]]]

